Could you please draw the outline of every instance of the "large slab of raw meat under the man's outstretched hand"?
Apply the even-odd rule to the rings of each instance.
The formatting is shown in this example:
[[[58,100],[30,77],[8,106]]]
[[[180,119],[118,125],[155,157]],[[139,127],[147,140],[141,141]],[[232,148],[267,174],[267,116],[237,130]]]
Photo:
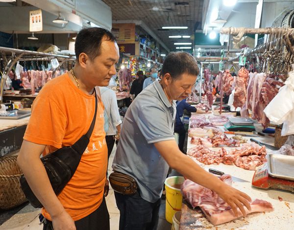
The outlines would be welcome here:
[[[226,184],[232,184],[230,175],[224,174],[220,179]],[[181,186],[181,192],[185,200],[188,201],[193,208],[197,206],[201,208],[207,219],[213,225],[220,225],[243,216],[239,208],[238,216],[235,216],[232,208],[225,203],[217,193],[190,180],[184,181]],[[245,207],[246,214],[273,211],[272,205],[264,200],[255,199],[250,203],[250,206],[251,211],[247,210]]]

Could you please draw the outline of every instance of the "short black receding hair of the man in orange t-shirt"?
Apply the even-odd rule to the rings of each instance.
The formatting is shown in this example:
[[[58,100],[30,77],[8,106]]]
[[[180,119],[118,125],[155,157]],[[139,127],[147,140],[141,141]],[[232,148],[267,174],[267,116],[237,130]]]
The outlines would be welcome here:
[[[115,36],[107,29],[92,27],[80,30],[74,45],[76,60],[81,53],[87,54],[91,60],[99,56],[102,39],[116,42]]]

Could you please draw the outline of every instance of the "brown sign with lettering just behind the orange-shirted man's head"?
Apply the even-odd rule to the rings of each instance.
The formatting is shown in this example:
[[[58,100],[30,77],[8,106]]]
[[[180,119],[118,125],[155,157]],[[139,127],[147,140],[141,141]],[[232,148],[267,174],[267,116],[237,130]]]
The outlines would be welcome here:
[[[135,42],[135,23],[114,23],[112,24],[111,32],[118,43]]]

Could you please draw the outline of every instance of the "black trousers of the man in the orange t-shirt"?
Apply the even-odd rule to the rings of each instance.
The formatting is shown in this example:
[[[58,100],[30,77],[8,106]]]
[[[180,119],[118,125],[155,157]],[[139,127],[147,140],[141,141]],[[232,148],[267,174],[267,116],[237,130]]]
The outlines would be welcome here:
[[[105,198],[101,205],[90,215],[74,221],[76,230],[110,230],[109,213],[106,206]],[[53,230],[52,222],[46,220],[43,230]]]

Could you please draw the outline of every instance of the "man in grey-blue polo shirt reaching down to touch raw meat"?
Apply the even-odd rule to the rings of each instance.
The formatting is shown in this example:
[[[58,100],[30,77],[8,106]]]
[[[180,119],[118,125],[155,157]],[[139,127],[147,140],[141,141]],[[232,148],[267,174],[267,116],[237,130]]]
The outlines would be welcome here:
[[[131,195],[120,193],[123,186],[114,191],[120,230],[157,229],[160,197],[170,167],[218,193],[235,215],[238,207],[244,216],[245,207],[251,209],[248,195],[205,171],[179,150],[174,139],[175,100],[188,97],[198,74],[191,54],[171,52],[164,61],[161,81],[143,90],[126,111],[112,168],[132,177],[138,189]]]

